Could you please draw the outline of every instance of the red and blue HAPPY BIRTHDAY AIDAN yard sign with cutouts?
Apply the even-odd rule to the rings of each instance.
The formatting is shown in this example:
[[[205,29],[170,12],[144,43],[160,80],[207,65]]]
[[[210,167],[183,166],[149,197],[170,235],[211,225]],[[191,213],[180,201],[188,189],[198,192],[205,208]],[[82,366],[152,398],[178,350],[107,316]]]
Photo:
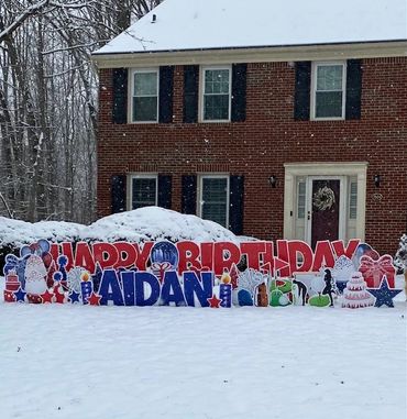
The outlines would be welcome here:
[[[364,308],[393,307],[399,293],[392,257],[360,240],[322,241],[315,250],[297,240],[40,240],[23,246],[20,257],[8,255],[3,273],[6,302]]]

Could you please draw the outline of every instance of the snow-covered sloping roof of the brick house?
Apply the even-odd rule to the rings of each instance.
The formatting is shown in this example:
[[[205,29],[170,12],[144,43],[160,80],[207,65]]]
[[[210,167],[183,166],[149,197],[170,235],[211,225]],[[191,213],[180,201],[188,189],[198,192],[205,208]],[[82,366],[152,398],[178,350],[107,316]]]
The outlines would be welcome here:
[[[95,54],[400,40],[406,0],[164,0]]]

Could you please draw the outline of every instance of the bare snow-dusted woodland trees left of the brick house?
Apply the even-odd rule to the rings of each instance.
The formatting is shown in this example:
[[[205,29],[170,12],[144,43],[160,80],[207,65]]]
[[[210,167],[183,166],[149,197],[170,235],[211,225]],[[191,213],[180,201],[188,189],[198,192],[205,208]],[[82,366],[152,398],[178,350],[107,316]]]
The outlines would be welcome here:
[[[97,73],[90,53],[161,0],[2,0],[0,213],[95,217]]]

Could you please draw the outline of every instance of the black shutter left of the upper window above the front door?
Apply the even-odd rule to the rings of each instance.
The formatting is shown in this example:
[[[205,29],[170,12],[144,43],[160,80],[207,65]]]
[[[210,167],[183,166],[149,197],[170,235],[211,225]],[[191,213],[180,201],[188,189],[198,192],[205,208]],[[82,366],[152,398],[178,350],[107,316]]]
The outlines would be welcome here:
[[[294,97],[294,119],[309,120],[311,90],[311,62],[296,63],[296,86]]]

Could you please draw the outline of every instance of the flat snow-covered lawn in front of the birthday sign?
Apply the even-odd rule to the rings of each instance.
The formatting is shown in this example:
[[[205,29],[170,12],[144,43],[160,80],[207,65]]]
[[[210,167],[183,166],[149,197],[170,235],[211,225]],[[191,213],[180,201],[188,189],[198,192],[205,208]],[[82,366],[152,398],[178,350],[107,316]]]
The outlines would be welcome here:
[[[359,310],[0,302],[0,417],[405,419],[404,299]]]

